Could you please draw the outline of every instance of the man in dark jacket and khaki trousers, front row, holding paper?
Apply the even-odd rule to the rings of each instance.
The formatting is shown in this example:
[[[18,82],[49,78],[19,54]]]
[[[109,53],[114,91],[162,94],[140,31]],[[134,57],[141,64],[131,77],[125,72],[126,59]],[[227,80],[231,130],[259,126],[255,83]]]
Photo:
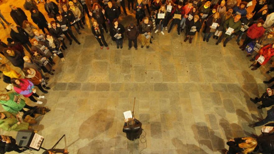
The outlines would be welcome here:
[[[139,25],[139,31],[142,34],[141,35],[141,41],[142,41],[142,46],[141,48],[144,48],[144,45],[149,48],[150,44],[150,38],[151,38],[151,32],[153,30],[153,24],[151,21],[149,21],[148,17],[144,17],[144,20],[140,23]]]

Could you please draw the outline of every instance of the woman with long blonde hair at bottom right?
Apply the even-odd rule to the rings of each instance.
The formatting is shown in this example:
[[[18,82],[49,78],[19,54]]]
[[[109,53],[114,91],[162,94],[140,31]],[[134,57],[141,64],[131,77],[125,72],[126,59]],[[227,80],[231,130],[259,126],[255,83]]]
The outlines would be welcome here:
[[[227,143],[229,146],[229,150],[226,149],[225,154],[237,154],[239,152],[243,154],[248,154],[250,152],[253,152],[255,147],[257,146],[257,141],[255,138],[234,138],[230,139]]]

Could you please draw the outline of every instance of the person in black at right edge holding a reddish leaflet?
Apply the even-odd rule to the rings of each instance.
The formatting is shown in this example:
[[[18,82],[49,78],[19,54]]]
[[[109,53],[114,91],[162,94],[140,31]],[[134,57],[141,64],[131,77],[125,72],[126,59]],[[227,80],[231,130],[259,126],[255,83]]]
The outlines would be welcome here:
[[[270,107],[274,105],[274,86],[267,88],[267,91],[262,94],[260,98],[256,97],[255,99],[250,98],[250,100],[257,104],[258,102],[262,101],[262,105],[258,106],[258,109]]]

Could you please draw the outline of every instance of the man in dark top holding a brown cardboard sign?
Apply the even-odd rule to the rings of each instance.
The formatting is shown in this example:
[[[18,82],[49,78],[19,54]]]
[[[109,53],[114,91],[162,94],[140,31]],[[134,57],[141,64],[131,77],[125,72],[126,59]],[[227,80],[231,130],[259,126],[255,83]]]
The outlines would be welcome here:
[[[173,20],[171,22],[171,25],[168,29],[168,33],[170,33],[172,27],[174,24],[177,25],[177,33],[178,35],[180,35],[180,23],[181,23],[181,20],[182,20],[182,16],[185,14],[185,11],[184,11],[184,7],[183,6],[183,3],[182,2],[179,2],[179,4],[173,8],[170,16],[172,16]]]

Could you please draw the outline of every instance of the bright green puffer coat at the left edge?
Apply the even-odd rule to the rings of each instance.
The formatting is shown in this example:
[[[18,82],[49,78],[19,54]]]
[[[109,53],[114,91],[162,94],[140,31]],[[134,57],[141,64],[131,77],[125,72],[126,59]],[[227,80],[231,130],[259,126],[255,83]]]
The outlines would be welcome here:
[[[25,100],[20,99],[20,95],[15,92],[8,93],[8,96],[10,97],[9,100],[0,100],[0,103],[2,104],[4,110],[13,114],[17,114],[18,111],[22,110],[26,105],[26,102]]]

